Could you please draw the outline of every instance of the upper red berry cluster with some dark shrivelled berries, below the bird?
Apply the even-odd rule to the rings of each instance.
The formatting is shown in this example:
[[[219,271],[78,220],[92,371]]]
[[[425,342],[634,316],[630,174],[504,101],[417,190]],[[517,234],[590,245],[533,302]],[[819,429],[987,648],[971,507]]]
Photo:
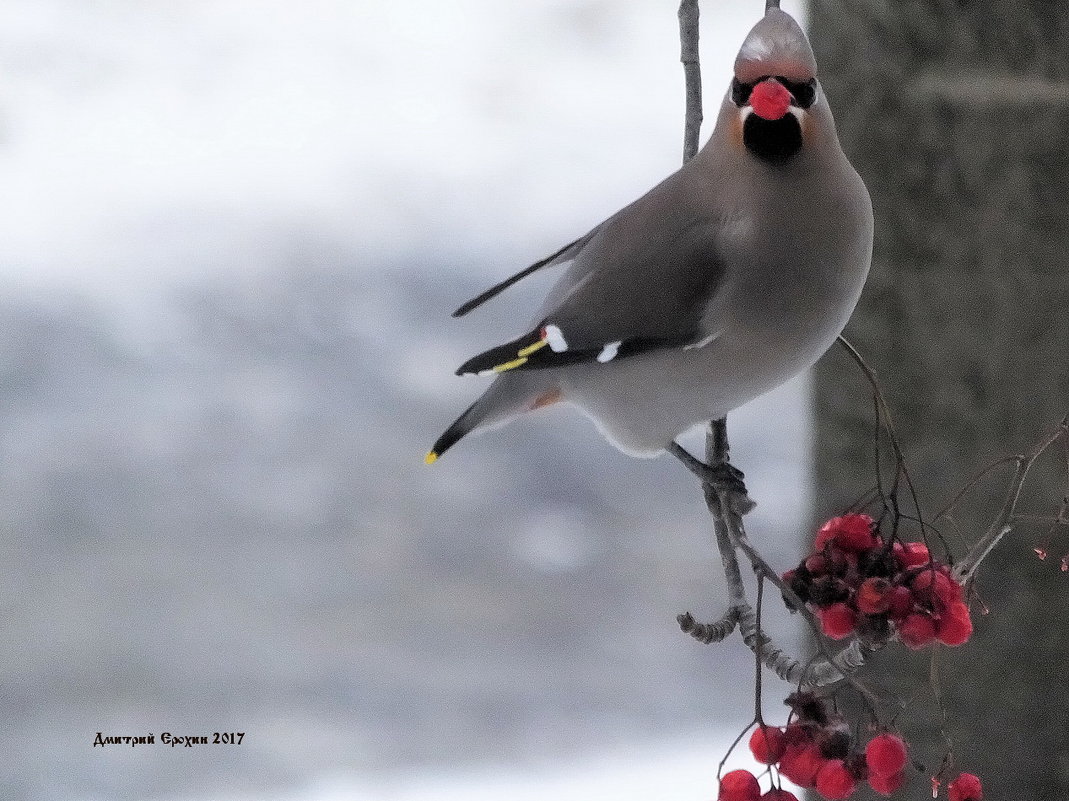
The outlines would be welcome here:
[[[897,632],[917,650],[933,641],[962,645],[973,633],[950,568],[923,542],[887,542],[868,514],[843,514],[817,533],[814,552],[784,581],[814,606],[824,634],[856,634],[879,646]]]

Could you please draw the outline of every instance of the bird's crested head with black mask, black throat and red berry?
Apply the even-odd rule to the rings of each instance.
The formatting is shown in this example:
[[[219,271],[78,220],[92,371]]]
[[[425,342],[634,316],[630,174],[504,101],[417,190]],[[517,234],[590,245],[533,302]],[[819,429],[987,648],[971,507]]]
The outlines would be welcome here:
[[[817,60],[793,17],[770,9],[739,48],[726,103],[734,106],[738,139],[765,161],[785,163],[817,137],[826,117]]]

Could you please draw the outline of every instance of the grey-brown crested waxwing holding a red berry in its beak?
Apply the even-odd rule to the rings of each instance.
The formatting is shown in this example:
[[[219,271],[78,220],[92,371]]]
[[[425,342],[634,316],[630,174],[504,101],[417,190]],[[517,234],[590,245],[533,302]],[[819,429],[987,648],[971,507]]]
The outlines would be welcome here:
[[[841,334],[872,258],[872,204],[808,38],[772,7],[746,35],[715,126],[677,172],[461,306],[568,264],[526,332],[465,361],[492,375],[427,453],[571,403],[624,453],[678,449],[806,370]],[[675,452],[675,451],[673,451]]]

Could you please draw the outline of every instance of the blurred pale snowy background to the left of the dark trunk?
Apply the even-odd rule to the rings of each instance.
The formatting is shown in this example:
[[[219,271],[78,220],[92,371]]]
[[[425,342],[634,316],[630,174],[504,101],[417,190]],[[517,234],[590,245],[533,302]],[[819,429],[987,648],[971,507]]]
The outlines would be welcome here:
[[[676,628],[692,477],[567,410],[422,464],[546,283],[450,311],[679,165],[676,11],[0,5],[0,797],[713,795],[752,657]],[[761,11],[707,4],[707,112]],[[781,566],[807,397],[731,420]]]

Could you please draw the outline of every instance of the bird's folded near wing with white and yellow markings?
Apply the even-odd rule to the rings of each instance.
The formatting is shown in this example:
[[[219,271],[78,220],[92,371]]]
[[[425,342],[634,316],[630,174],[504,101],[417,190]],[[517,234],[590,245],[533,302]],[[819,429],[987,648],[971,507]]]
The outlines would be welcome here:
[[[654,231],[610,219],[561,278],[559,301],[533,330],[466,361],[458,374],[607,363],[666,349],[698,348],[717,332],[707,311],[725,263],[708,219]]]

